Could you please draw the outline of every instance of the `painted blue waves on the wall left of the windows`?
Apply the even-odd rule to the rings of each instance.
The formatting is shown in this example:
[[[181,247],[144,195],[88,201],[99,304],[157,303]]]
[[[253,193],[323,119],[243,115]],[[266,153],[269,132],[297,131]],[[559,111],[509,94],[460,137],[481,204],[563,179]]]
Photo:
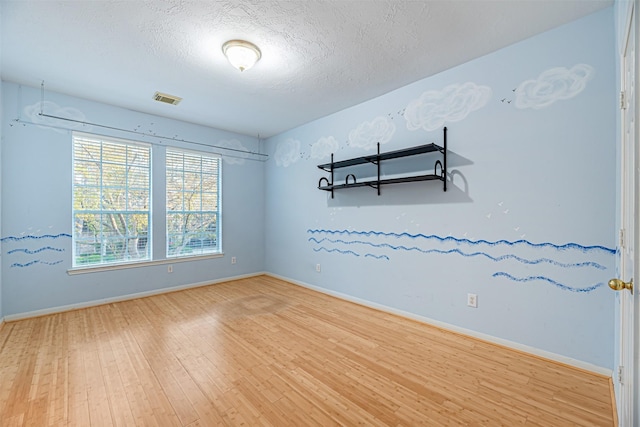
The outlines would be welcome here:
[[[52,246],[53,242],[58,242],[59,240],[71,239],[71,234],[68,233],[59,233],[59,234],[27,234],[27,235],[19,235],[19,236],[5,236],[0,238],[0,242],[3,245],[3,250],[5,250],[5,246],[15,246],[17,244],[20,247],[13,247],[6,251],[7,255],[11,257],[19,257],[17,260],[11,260],[10,267],[14,268],[27,268],[33,267],[36,265],[44,265],[44,266],[52,266],[61,264],[64,260],[62,259],[44,259],[51,255],[58,255],[62,252],[65,252],[65,249],[62,247]],[[50,243],[51,244],[48,244]],[[25,256],[37,255],[38,258],[28,258],[24,259]]]

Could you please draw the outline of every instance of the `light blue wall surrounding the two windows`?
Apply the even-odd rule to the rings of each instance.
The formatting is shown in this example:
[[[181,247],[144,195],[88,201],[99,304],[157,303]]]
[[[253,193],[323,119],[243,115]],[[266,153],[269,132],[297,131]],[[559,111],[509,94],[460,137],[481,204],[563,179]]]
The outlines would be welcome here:
[[[174,271],[171,274],[167,273],[166,265],[154,265],[68,275],[67,270],[71,267],[71,238],[68,236],[72,232],[71,131],[56,129],[51,125],[151,142],[156,144],[152,152],[154,162],[162,159],[167,145],[207,150],[206,147],[184,144],[177,140],[244,147],[253,151],[258,149],[258,142],[255,138],[243,135],[136,113],[51,92],[45,94],[45,101],[41,103],[39,89],[21,87],[13,83],[3,83],[2,89],[4,106],[2,290],[5,316],[264,270],[262,215],[264,163],[224,156],[222,165],[224,257],[175,262]],[[41,106],[45,114],[168,136],[175,140],[44,118],[38,115]],[[167,108],[176,107],[167,106]],[[208,151],[228,153],[218,149]],[[158,170],[162,171],[162,168]],[[156,173],[153,176],[153,185],[162,188],[163,179],[162,173]],[[156,194],[156,199],[153,201],[154,207],[163,206],[162,197],[162,191]],[[160,211],[159,216],[162,217],[162,215]],[[154,239],[162,240],[163,230],[155,230]],[[48,247],[56,250],[47,249],[38,252],[38,249]],[[154,245],[154,249],[157,248],[158,245]],[[32,254],[21,249],[28,249]],[[237,258],[235,265],[231,264],[232,256]]]

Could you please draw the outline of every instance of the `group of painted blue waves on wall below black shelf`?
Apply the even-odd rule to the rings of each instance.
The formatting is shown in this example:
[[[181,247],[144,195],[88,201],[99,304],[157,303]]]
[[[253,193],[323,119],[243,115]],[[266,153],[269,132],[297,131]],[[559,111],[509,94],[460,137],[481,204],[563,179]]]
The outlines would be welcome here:
[[[515,283],[538,282],[552,285],[569,292],[588,293],[602,286],[604,282],[584,286],[585,270],[591,269],[588,277],[604,277],[604,271],[613,265],[616,249],[601,245],[581,245],[579,243],[556,244],[553,242],[531,242],[519,240],[471,240],[455,236],[435,234],[394,233],[384,231],[308,229],[307,239],[316,252],[361,256],[390,260],[397,253],[417,253],[424,255],[459,256],[480,258],[492,264],[500,264],[503,270],[516,268],[536,268],[539,274],[521,277],[509,271],[497,271],[493,278]],[[518,265],[520,267],[518,267]],[[598,273],[597,271],[600,271]],[[553,278],[552,276],[556,276]],[[558,279],[557,276],[562,277]],[[577,282],[580,285],[571,285]]]

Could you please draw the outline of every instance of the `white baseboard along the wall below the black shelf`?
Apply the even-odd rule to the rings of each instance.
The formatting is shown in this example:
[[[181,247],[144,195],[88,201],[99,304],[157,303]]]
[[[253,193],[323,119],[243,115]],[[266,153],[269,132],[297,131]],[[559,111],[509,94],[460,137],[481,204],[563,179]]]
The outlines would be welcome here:
[[[524,353],[531,354],[533,356],[541,357],[543,359],[552,360],[554,362],[563,363],[565,365],[573,366],[578,369],[583,369],[585,371],[593,372],[596,374],[604,375],[608,378],[611,378],[613,375],[613,371],[608,368],[603,368],[602,366],[594,365],[588,362],[584,362],[582,360],[573,359],[571,357],[563,356],[561,354],[552,353],[550,351],[541,350],[536,347],[528,346],[525,344],[520,344],[518,342],[505,340],[502,338],[494,337],[492,335],[484,334],[482,332],[477,332],[472,329],[462,328],[460,326],[452,325],[450,323],[441,322],[439,320],[430,319],[428,317],[420,316],[418,314],[410,313],[403,310],[398,310],[393,307],[389,307],[386,305],[378,304],[375,302],[363,300],[351,295],[343,294],[341,292],[332,291],[330,289],[321,288],[318,286],[310,285],[308,283],[300,282],[298,280],[290,279],[288,277],[280,276],[273,273],[265,273],[268,276],[275,277],[276,279],[284,280],[286,282],[293,283],[298,286],[302,286],[304,288],[308,288],[314,291],[321,292],[323,294],[331,295],[336,298],[340,298],[346,301],[350,301],[359,305],[363,305],[365,307],[375,308],[376,310],[384,311],[391,314],[396,314],[398,316],[406,317],[408,319],[417,320],[422,323],[426,323],[429,325],[437,326],[442,329],[446,329],[452,332],[457,332],[460,334],[464,334],[473,338],[480,339],[482,341],[487,341],[490,343],[498,344],[504,347],[512,348],[514,350],[522,351]]]

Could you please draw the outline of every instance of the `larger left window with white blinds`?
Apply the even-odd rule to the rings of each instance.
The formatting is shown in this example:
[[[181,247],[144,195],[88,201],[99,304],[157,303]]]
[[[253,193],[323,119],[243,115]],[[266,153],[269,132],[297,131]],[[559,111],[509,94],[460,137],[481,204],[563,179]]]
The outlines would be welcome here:
[[[151,148],[74,133],[73,266],[151,259]]]

